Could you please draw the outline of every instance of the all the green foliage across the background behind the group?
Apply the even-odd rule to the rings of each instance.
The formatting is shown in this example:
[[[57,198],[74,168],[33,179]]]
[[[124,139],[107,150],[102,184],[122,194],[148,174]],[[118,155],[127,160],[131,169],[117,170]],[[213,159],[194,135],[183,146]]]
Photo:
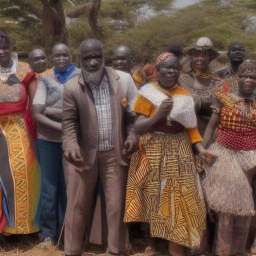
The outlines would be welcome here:
[[[72,2],[78,4],[87,0]],[[256,16],[256,1],[225,2],[229,4],[225,6],[220,0],[205,0],[171,14],[163,14],[161,10],[168,9],[171,0],[102,0],[98,25],[106,61],[110,63],[112,50],[117,44],[128,45],[135,62],[145,62],[153,61],[170,42],[187,46],[200,36],[210,37],[218,50],[226,50],[232,40],[241,40],[249,51],[253,51],[256,33],[245,32],[243,21],[248,15]],[[24,4],[21,6],[21,3]],[[25,3],[33,3],[33,8]],[[19,9],[10,7],[18,4]],[[139,21],[138,15],[143,6],[151,8],[157,15]],[[64,7],[71,5],[64,1]],[[27,52],[43,41],[40,15],[30,15],[40,12],[40,8],[39,0],[0,0],[0,27],[10,34],[19,52]],[[5,23],[4,20],[17,20],[19,23]],[[67,30],[71,52],[77,56],[80,41],[92,36],[86,15],[67,25]],[[77,62],[77,57],[74,61]]]

